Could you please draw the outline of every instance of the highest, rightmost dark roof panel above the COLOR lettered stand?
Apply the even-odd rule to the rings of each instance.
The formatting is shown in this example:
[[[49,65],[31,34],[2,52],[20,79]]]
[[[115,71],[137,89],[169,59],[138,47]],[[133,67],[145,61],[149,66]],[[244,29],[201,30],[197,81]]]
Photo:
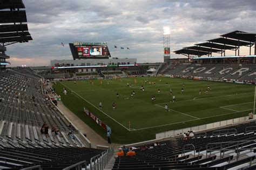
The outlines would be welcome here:
[[[239,40],[244,40],[246,42],[255,42],[256,40],[255,36],[256,36],[256,33],[248,33],[244,31],[233,31],[233,32],[221,35],[221,37],[239,39]]]

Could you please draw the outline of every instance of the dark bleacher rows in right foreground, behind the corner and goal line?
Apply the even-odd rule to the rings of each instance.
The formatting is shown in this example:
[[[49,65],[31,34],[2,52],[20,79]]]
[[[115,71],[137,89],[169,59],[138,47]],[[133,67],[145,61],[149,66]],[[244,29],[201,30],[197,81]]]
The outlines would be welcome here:
[[[231,134],[210,131],[206,137],[139,146],[136,156],[118,157],[112,169],[255,169],[256,128],[244,133],[251,126],[256,127],[254,121],[233,126]]]

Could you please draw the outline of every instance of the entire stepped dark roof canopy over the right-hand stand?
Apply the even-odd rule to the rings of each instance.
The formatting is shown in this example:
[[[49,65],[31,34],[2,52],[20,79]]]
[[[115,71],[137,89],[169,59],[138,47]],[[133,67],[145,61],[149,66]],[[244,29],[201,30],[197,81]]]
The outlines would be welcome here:
[[[184,47],[181,50],[173,51],[176,54],[182,54],[185,56],[212,56],[212,53],[224,53],[225,50],[235,50],[235,53],[238,50],[239,55],[239,47],[240,46],[249,46],[250,47],[250,55],[251,55],[251,47],[256,42],[255,39],[256,33],[248,33],[244,31],[233,31],[230,33],[226,33],[221,35],[221,38],[215,38],[207,40],[205,43],[195,44],[196,46]],[[254,53],[255,49],[254,49]]]

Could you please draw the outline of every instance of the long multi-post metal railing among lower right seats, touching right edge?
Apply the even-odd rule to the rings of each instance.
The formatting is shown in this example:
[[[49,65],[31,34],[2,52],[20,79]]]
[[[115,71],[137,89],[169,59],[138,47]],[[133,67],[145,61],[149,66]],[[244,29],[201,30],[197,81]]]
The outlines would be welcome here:
[[[245,150],[250,149],[252,152],[254,145],[247,144],[247,142],[254,142],[254,144],[256,144],[256,140],[240,140],[240,141],[209,143],[206,145],[206,158],[208,157],[208,152],[210,152],[210,157],[211,157],[212,151],[219,151],[220,158],[221,158],[221,156],[224,157],[225,151],[235,151],[235,152],[237,152],[237,160],[238,160],[240,151],[245,151]],[[247,146],[247,148],[243,148],[244,146],[240,146],[242,144],[245,144],[245,146]],[[248,148],[248,145],[250,145],[249,148]],[[209,148],[210,146],[212,146],[212,148]]]

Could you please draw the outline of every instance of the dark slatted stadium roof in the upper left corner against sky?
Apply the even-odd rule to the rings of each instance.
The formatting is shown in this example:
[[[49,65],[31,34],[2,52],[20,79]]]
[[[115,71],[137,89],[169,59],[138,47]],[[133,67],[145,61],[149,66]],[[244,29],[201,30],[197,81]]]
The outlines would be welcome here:
[[[0,43],[3,45],[32,40],[25,24],[26,11],[20,8],[25,8],[22,0],[0,0],[0,9],[10,9],[0,11]]]

